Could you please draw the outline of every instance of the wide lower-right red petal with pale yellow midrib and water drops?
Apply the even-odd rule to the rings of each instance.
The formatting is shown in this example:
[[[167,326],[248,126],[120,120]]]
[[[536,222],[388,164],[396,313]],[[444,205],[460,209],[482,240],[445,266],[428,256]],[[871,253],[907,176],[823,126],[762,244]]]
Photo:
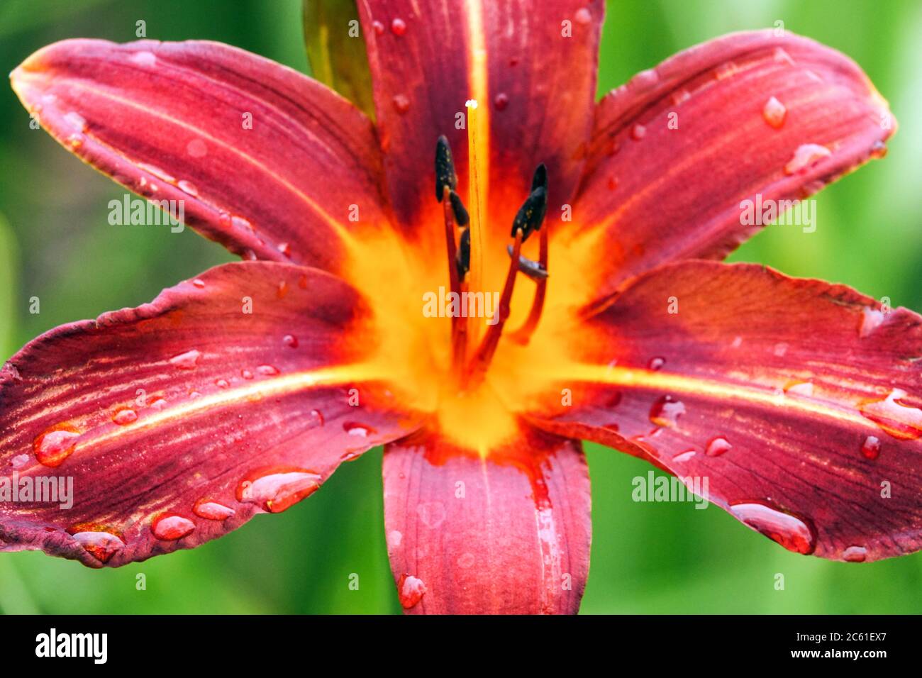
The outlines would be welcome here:
[[[919,315],[695,261],[636,280],[581,339],[584,364],[561,375],[573,406],[538,407],[540,425],[707,478],[712,501],[800,553],[922,547]]]

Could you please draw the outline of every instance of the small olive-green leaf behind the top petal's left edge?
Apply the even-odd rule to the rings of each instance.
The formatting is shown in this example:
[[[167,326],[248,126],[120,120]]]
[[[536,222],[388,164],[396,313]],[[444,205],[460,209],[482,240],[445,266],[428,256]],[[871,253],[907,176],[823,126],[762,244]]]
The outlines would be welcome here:
[[[303,0],[302,20],[313,77],[374,118],[372,73],[355,0]]]

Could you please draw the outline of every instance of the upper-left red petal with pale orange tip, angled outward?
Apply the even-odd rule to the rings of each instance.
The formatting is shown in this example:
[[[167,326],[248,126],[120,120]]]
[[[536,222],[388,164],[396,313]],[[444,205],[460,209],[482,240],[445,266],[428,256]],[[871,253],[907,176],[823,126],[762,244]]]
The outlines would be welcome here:
[[[81,160],[242,256],[337,271],[356,223],[378,226],[380,158],[349,101],[217,42],[56,42],[12,74]],[[252,125],[251,125],[252,123]]]

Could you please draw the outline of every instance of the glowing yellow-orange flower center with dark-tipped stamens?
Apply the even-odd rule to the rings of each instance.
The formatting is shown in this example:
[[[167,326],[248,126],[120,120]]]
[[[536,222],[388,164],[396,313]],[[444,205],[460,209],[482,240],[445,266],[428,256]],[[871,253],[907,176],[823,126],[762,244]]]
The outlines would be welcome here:
[[[380,338],[369,374],[387,375],[401,401],[430,412],[456,446],[486,455],[516,437],[518,414],[538,398],[560,400],[566,385],[552,383],[542,368],[572,362],[572,335],[561,307],[573,306],[567,295],[585,275],[581,257],[561,247],[554,270],[560,293],[556,300],[549,296],[555,286],[549,285],[544,165],[535,170],[513,223],[500,229],[486,213],[478,157],[487,149],[476,141],[468,149],[469,211],[455,192],[448,143],[438,141],[434,197],[442,208],[443,254],[408,246],[383,226],[363,234],[361,247],[350,248],[346,274],[371,302],[375,327],[366,334]],[[522,254],[526,241],[534,258]]]

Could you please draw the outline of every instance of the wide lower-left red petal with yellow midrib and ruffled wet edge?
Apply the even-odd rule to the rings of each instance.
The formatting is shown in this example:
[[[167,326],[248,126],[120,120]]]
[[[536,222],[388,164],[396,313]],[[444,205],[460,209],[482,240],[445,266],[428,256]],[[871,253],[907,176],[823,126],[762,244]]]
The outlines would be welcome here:
[[[73,507],[5,497],[0,551],[100,566],[192,548],[410,433],[361,367],[366,314],[328,274],[246,262],[35,339],[0,371],[0,496],[73,479]]]

